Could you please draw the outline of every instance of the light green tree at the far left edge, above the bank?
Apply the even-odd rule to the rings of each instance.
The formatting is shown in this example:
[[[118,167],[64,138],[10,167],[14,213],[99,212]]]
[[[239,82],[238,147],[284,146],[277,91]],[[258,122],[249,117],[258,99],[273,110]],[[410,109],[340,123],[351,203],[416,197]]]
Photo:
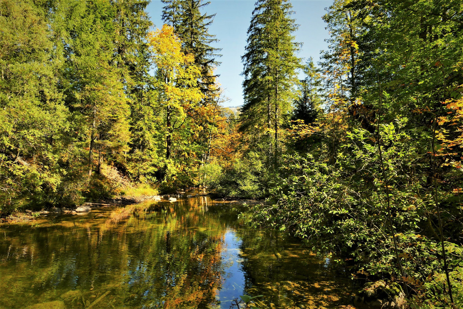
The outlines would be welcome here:
[[[0,209],[41,205],[61,181],[57,164],[68,131],[50,65],[45,10],[0,1]]]

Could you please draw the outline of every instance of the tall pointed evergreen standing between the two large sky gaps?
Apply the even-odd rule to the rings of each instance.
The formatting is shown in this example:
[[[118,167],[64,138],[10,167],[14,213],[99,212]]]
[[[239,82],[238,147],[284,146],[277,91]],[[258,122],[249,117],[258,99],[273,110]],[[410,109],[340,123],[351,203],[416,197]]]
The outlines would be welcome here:
[[[241,128],[256,131],[257,127],[260,136],[267,135],[275,166],[280,126],[291,108],[298,83],[296,71],[301,68],[296,56],[300,44],[294,42],[293,32],[298,25],[291,18],[293,13],[288,0],[258,0],[242,57],[245,80]]]

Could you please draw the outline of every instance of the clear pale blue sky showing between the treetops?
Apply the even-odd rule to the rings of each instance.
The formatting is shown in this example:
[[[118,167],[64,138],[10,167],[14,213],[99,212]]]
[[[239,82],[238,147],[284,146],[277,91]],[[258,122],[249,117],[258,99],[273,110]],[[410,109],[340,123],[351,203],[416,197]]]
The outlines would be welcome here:
[[[241,56],[246,46],[246,32],[251,20],[255,0],[210,0],[204,12],[216,13],[214,22],[209,27],[209,33],[215,35],[220,41],[215,47],[222,48],[222,57],[217,74],[219,82],[225,88],[225,95],[230,98],[225,106],[238,106],[243,104],[242,82],[243,63]],[[325,14],[325,7],[332,4],[332,0],[293,0],[293,9],[296,12],[294,18],[300,25],[295,33],[296,41],[302,42],[299,57],[313,57],[318,62],[320,50],[326,49],[325,38],[328,31],[321,17]],[[151,21],[157,28],[161,28],[161,11],[163,3],[160,0],[152,0],[148,6]]]

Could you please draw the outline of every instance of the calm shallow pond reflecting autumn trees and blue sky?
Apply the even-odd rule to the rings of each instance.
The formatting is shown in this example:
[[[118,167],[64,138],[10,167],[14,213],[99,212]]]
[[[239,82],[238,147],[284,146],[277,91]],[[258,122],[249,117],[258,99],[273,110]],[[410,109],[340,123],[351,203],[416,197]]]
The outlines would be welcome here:
[[[0,226],[0,309],[228,309],[243,293],[272,309],[348,303],[342,270],[242,211],[199,196]]]

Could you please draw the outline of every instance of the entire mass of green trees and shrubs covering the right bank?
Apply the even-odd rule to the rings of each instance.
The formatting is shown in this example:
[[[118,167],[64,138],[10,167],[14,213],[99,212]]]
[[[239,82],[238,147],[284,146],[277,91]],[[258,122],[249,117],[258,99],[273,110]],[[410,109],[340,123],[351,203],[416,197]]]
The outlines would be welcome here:
[[[319,63],[327,113],[291,128],[297,153],[253,208],[354,278],[400,284],[411,308],[462,303],[461,9],[335,1]]]

